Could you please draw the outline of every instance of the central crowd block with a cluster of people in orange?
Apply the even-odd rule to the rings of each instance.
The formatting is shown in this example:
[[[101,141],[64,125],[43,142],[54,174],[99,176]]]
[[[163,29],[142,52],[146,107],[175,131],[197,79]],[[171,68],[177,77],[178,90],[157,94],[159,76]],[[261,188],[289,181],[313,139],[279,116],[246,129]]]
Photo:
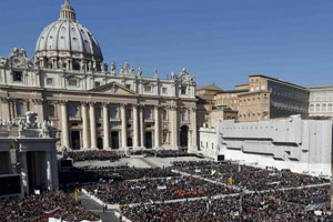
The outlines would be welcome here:
[[[97,183],[83,186],[107,203],[145,203],[175,199],[230,194],[236,191],[221,184],[191,178],[165,178]]]

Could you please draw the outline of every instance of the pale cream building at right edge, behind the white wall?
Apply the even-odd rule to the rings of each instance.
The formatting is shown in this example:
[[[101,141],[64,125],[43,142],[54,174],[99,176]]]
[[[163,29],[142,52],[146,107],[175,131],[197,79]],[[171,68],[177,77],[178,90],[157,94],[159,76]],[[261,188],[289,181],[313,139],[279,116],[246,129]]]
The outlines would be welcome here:
[[[333,87],[313,87],[310,91],[309,114],[311,117],[333,118]]]

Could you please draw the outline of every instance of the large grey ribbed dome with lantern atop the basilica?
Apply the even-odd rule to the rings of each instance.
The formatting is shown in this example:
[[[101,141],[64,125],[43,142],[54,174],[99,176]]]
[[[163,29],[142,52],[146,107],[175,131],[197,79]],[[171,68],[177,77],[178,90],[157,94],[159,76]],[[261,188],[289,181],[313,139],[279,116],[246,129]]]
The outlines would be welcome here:
[[[68,0],[61,6],[59,20],[41,32],[36,46],[36,56],[39,59],[48,59],[48,61],[40,62],[43,67],[50,67],[48,64],[52,63],[54,57],[57,63],[52,67],[59,67],[59,59],[65,64],[69,58],[72,59],[71,62],[74,62],[73,60],[79,62],[79,67],[87,65],[89,62],[95,62],[98,64],[94,67],[99,67],[103,61],[98,41],[85,27],[77,21],[74,9]]]

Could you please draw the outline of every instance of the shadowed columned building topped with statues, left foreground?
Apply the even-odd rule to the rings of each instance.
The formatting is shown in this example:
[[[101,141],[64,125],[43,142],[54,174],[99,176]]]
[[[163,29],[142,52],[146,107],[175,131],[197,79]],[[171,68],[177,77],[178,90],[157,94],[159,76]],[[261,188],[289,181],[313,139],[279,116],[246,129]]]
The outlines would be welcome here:
[[[0,120],[0,198],[58,190],[53,123],[36,120],[36,112]]]

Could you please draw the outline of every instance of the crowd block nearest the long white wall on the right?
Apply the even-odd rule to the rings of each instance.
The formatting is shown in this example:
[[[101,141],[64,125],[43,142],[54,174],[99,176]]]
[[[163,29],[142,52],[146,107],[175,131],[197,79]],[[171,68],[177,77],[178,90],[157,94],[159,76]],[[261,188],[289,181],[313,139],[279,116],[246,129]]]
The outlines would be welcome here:
[[[173,162],[173,164],[179,171],[201,175],[221,183],[228,183],[231,178],[233,185],[253,191],[330,182],[324,178],[293,173],[289,170],[266,170],[231,162],[180,161]]]

